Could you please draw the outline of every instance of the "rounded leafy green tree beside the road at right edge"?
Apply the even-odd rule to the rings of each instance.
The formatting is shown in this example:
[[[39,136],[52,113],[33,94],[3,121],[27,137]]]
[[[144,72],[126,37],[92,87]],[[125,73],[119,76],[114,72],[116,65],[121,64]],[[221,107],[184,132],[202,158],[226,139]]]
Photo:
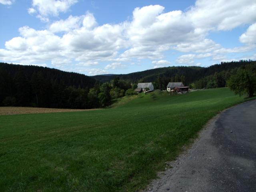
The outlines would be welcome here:
[[[230,76],[228,80],[228,87],[239,94],[248,94],[249,97],[253,97],[256,92],[256,68],[255,66],[246,66],[239,68],[235,74]]]

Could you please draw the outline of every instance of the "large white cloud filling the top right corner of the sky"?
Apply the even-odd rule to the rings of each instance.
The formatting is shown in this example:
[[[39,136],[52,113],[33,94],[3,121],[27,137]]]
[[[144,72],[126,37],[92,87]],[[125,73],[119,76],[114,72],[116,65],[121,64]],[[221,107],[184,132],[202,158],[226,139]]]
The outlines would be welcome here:
[[[186,16],[202,30],[231,30],[255,22],[255,9],[255,0],[197,0]]]

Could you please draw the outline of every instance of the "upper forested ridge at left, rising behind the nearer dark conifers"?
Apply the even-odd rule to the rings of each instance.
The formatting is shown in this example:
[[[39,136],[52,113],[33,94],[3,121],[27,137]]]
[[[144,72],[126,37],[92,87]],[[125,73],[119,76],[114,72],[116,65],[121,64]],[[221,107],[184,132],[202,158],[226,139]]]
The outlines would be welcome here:
[[[18,73],[22,72],[28,80],[32,78],[33,74],[40,72],[45,80],[54,81],[65,86],[75,86],[76,88],[92,88],[96,82],[94,78],[84,74],[64,72],[48,67],[0,63],[0,70],[9,78],[15,78]]]

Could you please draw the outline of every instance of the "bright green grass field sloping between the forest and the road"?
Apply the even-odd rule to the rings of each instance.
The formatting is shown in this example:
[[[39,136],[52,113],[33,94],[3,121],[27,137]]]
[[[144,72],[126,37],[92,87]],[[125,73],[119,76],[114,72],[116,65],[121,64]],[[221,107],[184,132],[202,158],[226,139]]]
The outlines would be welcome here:
[[[210,118],[243,101],[218,88],[142,93],[105,110],[0,116],[0,191],[136,191]]]

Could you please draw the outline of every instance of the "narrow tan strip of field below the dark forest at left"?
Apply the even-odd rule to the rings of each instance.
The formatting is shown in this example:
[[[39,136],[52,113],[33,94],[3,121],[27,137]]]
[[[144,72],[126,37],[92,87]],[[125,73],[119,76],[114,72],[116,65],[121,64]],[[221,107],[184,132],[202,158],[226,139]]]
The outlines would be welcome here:
[[[90,110],[100,110],[100,109],[54,109],[54,108],[34,108],[34,107],[0,107],[0,115],[73,112],[73,111],[90,111]]]

